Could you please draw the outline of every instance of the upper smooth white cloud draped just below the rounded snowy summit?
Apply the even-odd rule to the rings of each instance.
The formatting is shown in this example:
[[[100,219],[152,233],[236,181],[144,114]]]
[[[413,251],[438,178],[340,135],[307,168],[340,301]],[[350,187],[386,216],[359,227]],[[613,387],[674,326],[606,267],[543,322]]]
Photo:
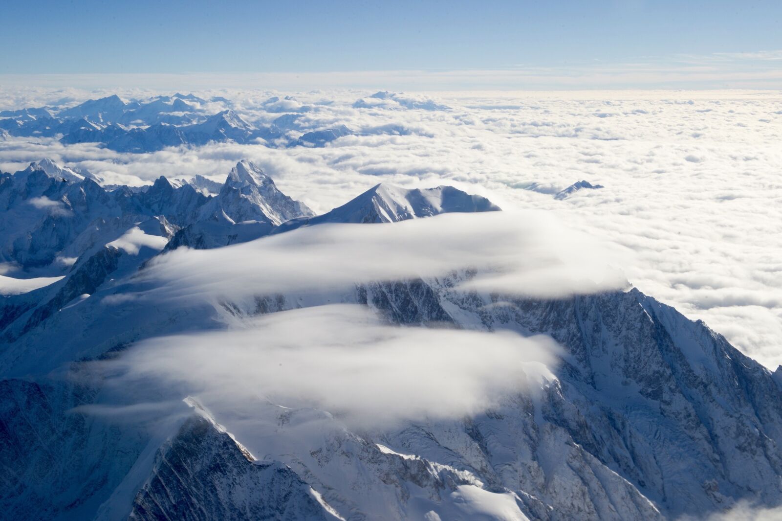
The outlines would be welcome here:
[[[178,249],[138,275],[155,298],[350,293],[357,283],[478,271],[465,289],[557,297],[626,285],[621,251],[536,212],[317,225],[214,250]]]

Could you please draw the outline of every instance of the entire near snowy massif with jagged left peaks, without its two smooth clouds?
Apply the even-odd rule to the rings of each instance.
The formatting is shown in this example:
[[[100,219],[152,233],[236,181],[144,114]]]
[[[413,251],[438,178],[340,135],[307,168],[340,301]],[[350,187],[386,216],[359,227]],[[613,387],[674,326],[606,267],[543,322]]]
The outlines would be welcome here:
[[[499,210],[488,199],[377,185],[312,217],[246,161],[213,196],[166,178],[106,191],[41,161],[2,174],[0,204],[5,259],[43,269],[76,257],[51,285],[0,297],[8,519],[635,520],[782,504],[779,372],[637,289],[519,297],[465,289],[474,274],[454,271],[339,294],[134,298],[154,298],[143,266],[176,241],[219,247],[321,223]],[[252,418],[228,422],[197,397],[137,402],[101,369],[140,340],[328,302],[407,329],[546,335],[562,352],[526,382],[536,393],[457,419],[361,429],[264,398]],[[160,419],[167,407],[175,414]]]

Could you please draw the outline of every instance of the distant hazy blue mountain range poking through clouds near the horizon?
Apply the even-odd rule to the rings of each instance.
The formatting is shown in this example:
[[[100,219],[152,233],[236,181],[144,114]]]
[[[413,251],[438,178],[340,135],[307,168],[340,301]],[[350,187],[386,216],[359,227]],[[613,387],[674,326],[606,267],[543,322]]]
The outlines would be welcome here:
[[[396,110],[447,110],[431,100],[416,100],[378,92],[359,100],[356,108]],[[393,126],[352,130],[344,124],[330,128],[300,128],[296,123],[312,106],[294,104],[292,98],[273,97],[257,110],[282,115],[271,124],[251,124],[231,109],[228,99],[176,93],[149,100],[125,101],[117,95],[89,99],[67,108],[45,106],[0,111],[0,139],[12,136],[59,138],[66,145],[99,143],[125,153],[149,153],[170,146],[203,146],[209,142],[258,142],[272,147],[321,147],[348,135],[399,135],[409,131]],[[210,113],[213,107],[224,107]]]

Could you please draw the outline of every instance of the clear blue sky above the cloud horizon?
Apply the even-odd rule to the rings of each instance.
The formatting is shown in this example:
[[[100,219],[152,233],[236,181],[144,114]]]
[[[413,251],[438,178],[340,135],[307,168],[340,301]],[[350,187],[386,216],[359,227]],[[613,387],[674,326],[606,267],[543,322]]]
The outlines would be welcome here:
[[[622,87],[708,67],[776,86],[782,66],[779,1],[4,3],[0,74],[646,74]]]

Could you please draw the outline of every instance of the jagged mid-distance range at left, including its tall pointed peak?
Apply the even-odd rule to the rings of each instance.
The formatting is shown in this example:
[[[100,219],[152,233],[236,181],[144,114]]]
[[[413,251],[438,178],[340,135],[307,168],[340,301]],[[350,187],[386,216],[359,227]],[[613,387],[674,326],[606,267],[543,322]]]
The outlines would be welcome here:
[[[224,246],[237,227],[252,228],[252,237],[257,238],[283,221],[312,215],[304,203],[285,196],[248,161],[231,169],[215,196],[204,195],[203,186],[215,189],[217,183],[210,185],[214,181],[203,176],[193,178],[195,188],[161,177],[141,192],[124,186],[104,189],[93,179],[48,159],[15,174],[2,174],[0,262],[60,275],[150,219],[160,221],[168,239],[177,235],[174,244],[179,246],[192,245],[196,229],[219,221],[223,235],[214,229],[209,237],[224,236],[226,242],[212,244]]]

